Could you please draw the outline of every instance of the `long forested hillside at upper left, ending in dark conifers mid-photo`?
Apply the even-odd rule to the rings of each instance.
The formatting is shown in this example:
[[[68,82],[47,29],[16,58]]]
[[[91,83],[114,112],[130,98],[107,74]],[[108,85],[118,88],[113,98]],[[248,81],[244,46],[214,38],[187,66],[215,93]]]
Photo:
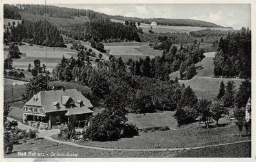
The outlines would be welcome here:
[[[27,8],[26,8],[27,7]],[[101,13],[95,13],[93,11],[67,9],[67,14],[70,16],[61,16],[66,10],[63,8],[58,8],[55,6],[41,6],[41,5],[28,5],[24,9],[20,10],[23,20],[26,21],[45,21],[47,20],[50,24],[56,26],[60,33],[67,35],[72,39],[76,40],[90,40],[94,39],[96,41],[107,41],[112,39],[120,40],[136,40],[140,42],[140,37],[138,36],[138,29],[136,26],[129,26],[118,22],[111,22],[110,19]],[[31,8],[31,9],[30,9]],[[39,8],[37,10],[37,8]],[[58,14],[56,17],[45,15],[45,10],[42,8],[47,8],[51,10],[49,13]],[[69,12],[70,11],[70,12]],[[88,13],[87,13],[88,12]],[[59,15],[60,14],[60,15]],[[102,17],[101,17],[102,15]],[[80,17],[77,17],[80,16]],[[89,18],[87,17],[89,16]]]

